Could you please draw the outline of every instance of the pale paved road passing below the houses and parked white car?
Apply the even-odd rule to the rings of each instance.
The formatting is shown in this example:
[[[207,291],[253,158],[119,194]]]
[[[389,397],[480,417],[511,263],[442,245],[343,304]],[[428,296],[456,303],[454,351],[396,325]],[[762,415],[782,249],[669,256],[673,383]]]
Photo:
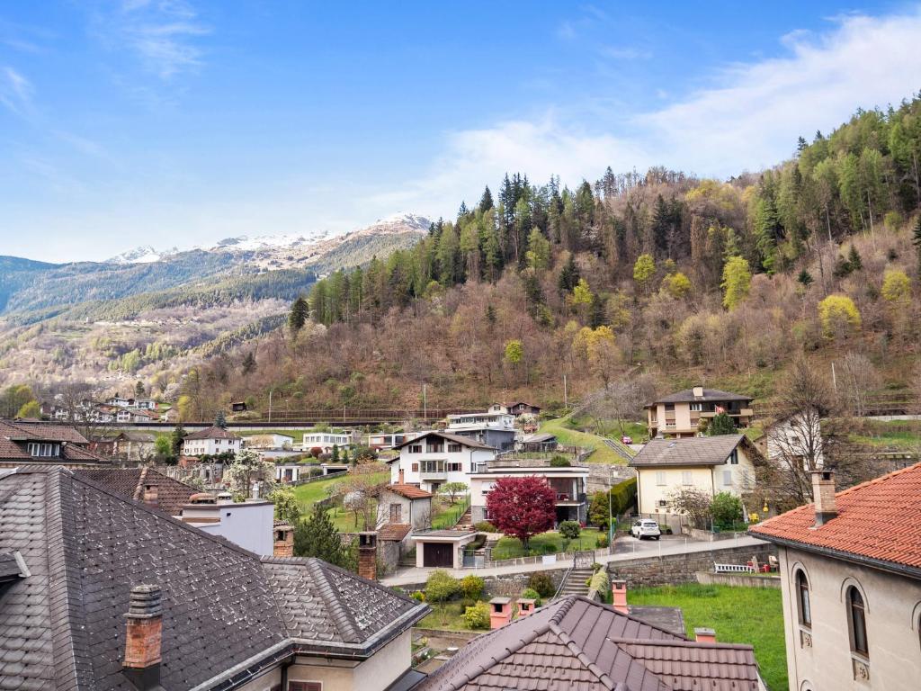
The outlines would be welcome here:
[[[746,547],[765,545],[763,540],[759,540],[749,535],[741,535],[734,540],[720,540],[718,542],[695,542],[681,535],[665,535],[660,541],[655,540],[634,540],[631,537],[623,537],[614,543],[614,554],[607,556],[597,556],[596,559],[600,564],[609,564],[611,562],[630,561],[631,559],[645,558],[648,556],[668,556],[691,554],[693,552],[706,552],[714,549],[731,549],[732,547]],[[504,567],[490,568],[461,568],[449,569],[449,573],[456,577],[462,578],[468,574],[477,576],[501,576],[516,573],[530,573],[531,571],[552,570],[554,568],[568,568],[572,566],[572,559],[561,559],[555,564],[521,564],[519,566],[511,565]],[[416,583],[425,583],[429,574],[436,569],[434,568],[402,568],[392,576],[380,580],[384,585],[414,585]]]

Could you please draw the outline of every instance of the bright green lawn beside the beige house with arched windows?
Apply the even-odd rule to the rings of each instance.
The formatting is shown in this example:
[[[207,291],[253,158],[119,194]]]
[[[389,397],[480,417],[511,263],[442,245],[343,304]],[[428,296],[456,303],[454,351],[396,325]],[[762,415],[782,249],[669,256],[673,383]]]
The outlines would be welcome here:
[[[694,627],[710,627],[724,643],[754,646],[765,684],[787,688],[787,650],[780,591],[726,585],[680,585],[645,588],[627,594],[630,604],[681,607],[688,636]]]

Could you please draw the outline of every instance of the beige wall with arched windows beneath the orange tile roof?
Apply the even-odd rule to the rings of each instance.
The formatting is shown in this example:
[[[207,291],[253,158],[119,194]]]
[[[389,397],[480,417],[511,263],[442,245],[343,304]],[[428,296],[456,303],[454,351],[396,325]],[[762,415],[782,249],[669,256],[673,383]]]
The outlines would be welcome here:
[[[788,548],[779,550],[790,691],[880,689],[916,691],[921,679],[921,581]],[[802,568],[810,585],[812,626],[799,625],[792,587]],[[867,618],[869,680],[857,681],[850,650],[846,591],[862,591]]]

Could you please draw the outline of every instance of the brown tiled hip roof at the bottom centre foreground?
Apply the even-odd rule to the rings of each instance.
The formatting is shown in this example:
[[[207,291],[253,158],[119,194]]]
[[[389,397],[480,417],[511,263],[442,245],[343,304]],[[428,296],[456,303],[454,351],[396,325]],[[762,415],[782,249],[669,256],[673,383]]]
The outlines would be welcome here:
[[[698,643],[585,597],[475,638],[414,691],[756,691],[751,646]]]

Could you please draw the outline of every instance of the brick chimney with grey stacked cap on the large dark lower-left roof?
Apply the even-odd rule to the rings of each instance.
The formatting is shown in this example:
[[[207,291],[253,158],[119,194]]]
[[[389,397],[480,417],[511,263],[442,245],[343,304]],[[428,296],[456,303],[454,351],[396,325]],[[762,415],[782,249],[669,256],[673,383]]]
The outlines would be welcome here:
[[[160,643],[163,635],[163,607],[158,585],[135,585],[125,616],[122,673],[139,691],[160,685]]]

